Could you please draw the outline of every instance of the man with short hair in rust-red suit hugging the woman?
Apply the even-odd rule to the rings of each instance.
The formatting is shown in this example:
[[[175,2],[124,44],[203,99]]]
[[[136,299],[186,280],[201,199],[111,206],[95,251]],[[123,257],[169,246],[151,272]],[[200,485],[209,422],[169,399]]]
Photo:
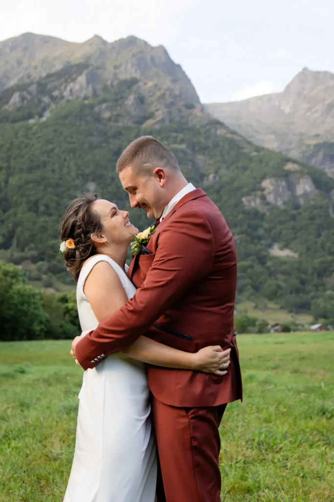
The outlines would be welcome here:
[[[137,293],[94,331],[77,337],[72,349],[87,369],[144,333],[188,352],[231,347],[225,376],[147,369],[163,481],[158,502],[219,502],[218,427],[227,403],[242,397],[232,234],[219,209],[187,183],[175,156],[156,139],[131,143],[117,172],[131,206],[155,218],[156,231],[128,271]]]

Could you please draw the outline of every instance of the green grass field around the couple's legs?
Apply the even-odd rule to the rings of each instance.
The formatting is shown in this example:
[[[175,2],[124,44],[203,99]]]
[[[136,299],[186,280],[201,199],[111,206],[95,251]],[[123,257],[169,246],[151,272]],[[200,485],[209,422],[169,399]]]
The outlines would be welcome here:
[[[238,344],[244,402],[221,425],[222,500],[334,500],[334,333]],[[69,341],[0,344],[2,502],[63,500],[82,379],[69,350]]]

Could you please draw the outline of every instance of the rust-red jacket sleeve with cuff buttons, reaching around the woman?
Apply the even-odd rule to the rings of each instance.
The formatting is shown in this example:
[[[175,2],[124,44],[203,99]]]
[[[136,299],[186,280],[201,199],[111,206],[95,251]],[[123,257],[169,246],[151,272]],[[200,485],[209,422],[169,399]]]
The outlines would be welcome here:
[[[213,259],[212,231],[202,213],[180,211],[178,218],[166,221],[142,287],[77,344],[82,367],[92,368],[100,362],[101,354],[106,357],[131,345],[211,271]]]

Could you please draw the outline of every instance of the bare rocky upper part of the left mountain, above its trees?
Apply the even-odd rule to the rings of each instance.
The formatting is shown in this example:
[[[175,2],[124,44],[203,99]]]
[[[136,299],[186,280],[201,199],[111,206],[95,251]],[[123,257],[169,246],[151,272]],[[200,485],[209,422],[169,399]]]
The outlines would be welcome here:
[[[180,65],[162,46],[127,37],[108,43],[94,36],[83,44],[26,33],[0,43],[0,109],[87,99],[118,82],[132,82],[123,123],[158,125],[186,116],[206,123],[208,113]],[[100,103],[108,113],[108,100]],[[97,108],[97,109],[100,109]]]

